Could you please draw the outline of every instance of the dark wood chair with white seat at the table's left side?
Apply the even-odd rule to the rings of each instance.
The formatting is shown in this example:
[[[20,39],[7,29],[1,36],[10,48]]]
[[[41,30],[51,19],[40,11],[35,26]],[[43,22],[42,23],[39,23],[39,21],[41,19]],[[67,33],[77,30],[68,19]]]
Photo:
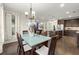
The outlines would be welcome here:
[[[19,54],[23,54],[25,55],[27,52],[30,52],[30,50],[32,49],[28,44],[24,45],[22,42],[22,38],[20,34],[17,34],[17,38],[18,38],[18,52]]]

